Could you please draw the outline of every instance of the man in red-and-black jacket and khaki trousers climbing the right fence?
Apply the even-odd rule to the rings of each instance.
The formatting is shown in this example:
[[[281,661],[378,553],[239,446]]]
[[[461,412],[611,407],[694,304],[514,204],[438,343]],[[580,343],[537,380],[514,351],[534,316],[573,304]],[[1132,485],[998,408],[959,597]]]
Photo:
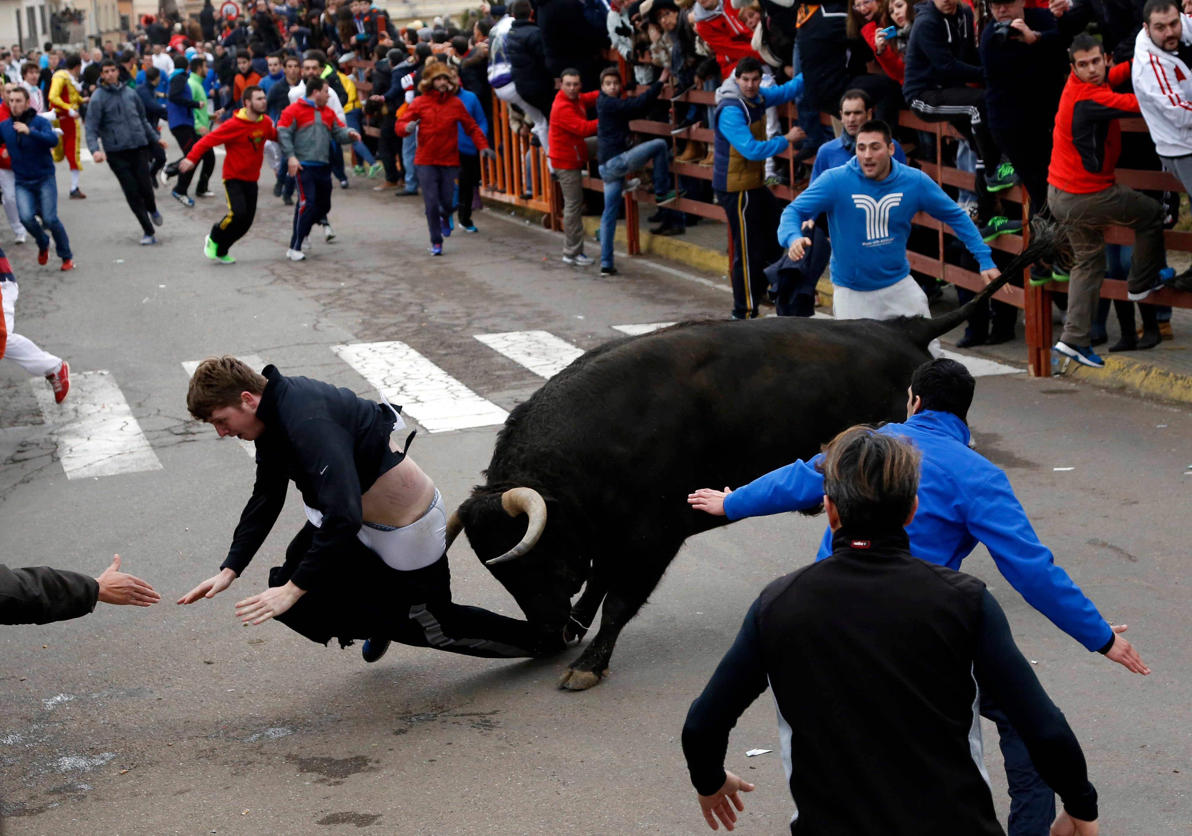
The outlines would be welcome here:
[[[1072,75],[1055,117],[1054,149],[1048,169],[1048,206],[1068,227],[1074,264],[1068,285],[1068,318],[1055,351],[1093,369],[1105,361],[1093,352],[1088,335],[1105,278],[1105,228],[1134,230],[1128,297],[1141,302],[1159,286],[1163,268],[1163,208],[1156,200],[1116,182],[1122,149],[1118,119],[1140,114],[1132,93],[1111,85],[1130,79],[1130,64],[1109,68],[1101,42],[1078,36],[1068,49]]]

